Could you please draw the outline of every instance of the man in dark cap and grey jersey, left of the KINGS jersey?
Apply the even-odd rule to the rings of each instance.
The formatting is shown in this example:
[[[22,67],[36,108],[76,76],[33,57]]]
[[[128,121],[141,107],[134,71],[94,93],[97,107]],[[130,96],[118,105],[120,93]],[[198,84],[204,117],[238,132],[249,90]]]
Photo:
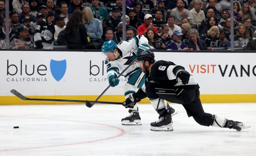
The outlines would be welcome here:
[[[26,26],[19,27],[18,29],[19,34],[13,36],[10,39],[11,49],[33,49],[34,43],[29,37],[28,30],[29,28]]]

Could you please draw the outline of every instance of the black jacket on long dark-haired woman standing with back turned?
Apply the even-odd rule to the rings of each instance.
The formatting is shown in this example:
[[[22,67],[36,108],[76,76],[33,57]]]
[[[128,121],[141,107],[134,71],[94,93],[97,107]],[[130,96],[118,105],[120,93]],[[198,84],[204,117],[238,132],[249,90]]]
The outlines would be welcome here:
[[[87,45],[87,31],[84,25],[79,25],[77,32],[66,32],[68,49],[84,49]]]

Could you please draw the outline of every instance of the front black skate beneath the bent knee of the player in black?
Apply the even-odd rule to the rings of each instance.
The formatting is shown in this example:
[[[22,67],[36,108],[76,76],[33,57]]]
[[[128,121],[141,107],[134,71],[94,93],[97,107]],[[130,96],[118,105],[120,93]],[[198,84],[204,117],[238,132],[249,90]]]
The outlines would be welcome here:
[[[160,117],[159,120],[151,123],[150,125],[151,131],[173,131],[171,114],[166,114],[164,117]]]

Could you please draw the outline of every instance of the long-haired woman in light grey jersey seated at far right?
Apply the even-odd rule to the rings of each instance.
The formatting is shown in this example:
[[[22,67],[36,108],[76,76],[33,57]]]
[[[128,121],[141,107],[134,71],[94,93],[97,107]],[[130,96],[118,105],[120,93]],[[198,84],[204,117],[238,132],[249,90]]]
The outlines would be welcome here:
[[[234,37],[234,47],[246,47],[249,40],[250,38],[245,25],[240,25],[236,36]]]

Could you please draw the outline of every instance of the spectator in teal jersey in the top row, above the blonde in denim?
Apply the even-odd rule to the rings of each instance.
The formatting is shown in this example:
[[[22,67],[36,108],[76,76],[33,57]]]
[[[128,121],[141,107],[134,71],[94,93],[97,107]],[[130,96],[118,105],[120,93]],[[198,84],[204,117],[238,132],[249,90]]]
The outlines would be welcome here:
[[[92,0],[92,12],[94,18],[98,18],[103,21],[108,16],[108,11],[106,8],[99,6],[100,0]]]

